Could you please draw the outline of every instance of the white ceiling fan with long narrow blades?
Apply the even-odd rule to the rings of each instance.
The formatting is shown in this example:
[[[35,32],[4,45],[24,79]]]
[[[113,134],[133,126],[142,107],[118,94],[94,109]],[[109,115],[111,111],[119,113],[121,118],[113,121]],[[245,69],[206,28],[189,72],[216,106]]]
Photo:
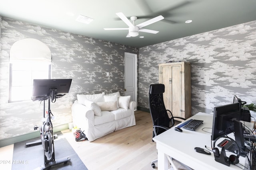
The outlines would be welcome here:
[[[122,12],[118,12],[116,13],[116,15],[124,21],[124,23],[126,23],[126,25],[128,25],[129,27],[128,28],[104,28],[105,30],[125,30],[125,29],[128,29],[129,30],[129,33],[126,35],[126,37],[136,37],[139,35],[139,31],[140,32],[145,32],[145,33],[153,33],[153,34],[156,34],[158,33],[159,31],[154,31],[154,30],[151,30],[151,29],[144,29],[143,27],[147,26],[147,25],[150,25],[152,23],[155,23],[157,21],[160,21],[162,19],[164,19],[163,16],[157,16],[155,18],[152,18],[148,21],[145,21],[145,22],[142,22],[138,25],[135,25],[134,21],[137,20],[137,17],[136,16],[132,16],[130,19],[132,20],[132,23],[128,20],[128,18],[126,18],[126,16],[122,13]]]

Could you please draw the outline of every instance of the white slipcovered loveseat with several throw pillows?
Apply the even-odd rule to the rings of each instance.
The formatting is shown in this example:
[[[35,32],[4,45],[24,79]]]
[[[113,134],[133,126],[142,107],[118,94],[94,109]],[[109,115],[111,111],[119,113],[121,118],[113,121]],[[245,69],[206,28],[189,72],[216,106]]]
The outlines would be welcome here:
[[[88,141],[94,141],[114,131],[136,125],[136,102],[119,92],[102,94],[78,94],[72,104],[74,127],[84,131]]]

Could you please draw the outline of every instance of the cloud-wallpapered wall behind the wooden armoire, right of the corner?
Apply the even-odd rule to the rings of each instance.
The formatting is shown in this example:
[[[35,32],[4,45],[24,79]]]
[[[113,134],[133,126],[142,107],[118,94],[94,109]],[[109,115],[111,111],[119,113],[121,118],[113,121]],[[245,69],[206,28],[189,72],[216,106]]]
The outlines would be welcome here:
[[[171,30],[170,30],[171,31]],[[158,64],[191,62],[192,114],[242,101],[256,103],[256,21],[139,49],[138,106],[148,108]]]

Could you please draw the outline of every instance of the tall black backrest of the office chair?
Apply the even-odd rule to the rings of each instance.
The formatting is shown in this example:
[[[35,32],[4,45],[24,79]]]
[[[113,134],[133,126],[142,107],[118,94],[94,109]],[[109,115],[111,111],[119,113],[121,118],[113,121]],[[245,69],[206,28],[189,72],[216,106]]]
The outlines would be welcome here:
[[[170,118],[168,117],[166,108],[164,106],[164,84],[151,84],[149,90],[149,109],[152,117],[153,125],[162,125],[170,127]],[[156,128],[156,133],[166,131],[162,128]]]

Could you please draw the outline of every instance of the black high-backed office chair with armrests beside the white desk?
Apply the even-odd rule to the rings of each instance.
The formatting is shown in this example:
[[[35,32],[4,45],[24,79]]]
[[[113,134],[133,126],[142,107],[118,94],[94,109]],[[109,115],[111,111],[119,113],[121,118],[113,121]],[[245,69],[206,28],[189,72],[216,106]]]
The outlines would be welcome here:
[[[164,106],[164,84],[151,84],[149,90],[149,110],[153,121],[153,137],[163,133],[175,125],[174,118],[186,120],[182,117],[174,117],[170,110],[166,110]],[[167,111],[172,116],[169,118]],[[152,139],[153,141],[153,139]],[[154,142],[154,141],[153,141]],[[172,159],[172,158],[171,158]],[[169,160],[172,162],[172,160]],[[157,160],[151,162],[152,168],[155,168]],[[173,163],[173,162],[172,162]],[[179,162],[180,163],[180,162]],[[182,164],[185,166],[184,164]],[[186,166],[187,167],[187,166]],[[187,167],[188,168],[188,167]]]

